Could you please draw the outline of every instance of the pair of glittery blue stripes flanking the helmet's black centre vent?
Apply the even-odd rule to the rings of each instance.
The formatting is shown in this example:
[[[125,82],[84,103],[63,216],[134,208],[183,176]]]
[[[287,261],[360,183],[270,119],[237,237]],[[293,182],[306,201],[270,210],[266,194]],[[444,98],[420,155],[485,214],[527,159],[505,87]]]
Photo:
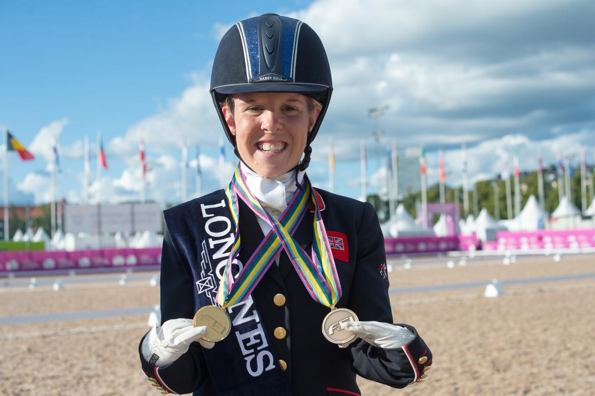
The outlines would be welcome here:
[[[262,17],[249,18],[237,23],[242,37],[244,58],[246,61],[246,77],[248,81],[258,76],[260,70],[260,57],[258,45],[258,23]],[[299,28],[302,22],[293,18],[278,17],[281,20],[281,46],[283,54],[283,74],[295,78],[295,61]]]

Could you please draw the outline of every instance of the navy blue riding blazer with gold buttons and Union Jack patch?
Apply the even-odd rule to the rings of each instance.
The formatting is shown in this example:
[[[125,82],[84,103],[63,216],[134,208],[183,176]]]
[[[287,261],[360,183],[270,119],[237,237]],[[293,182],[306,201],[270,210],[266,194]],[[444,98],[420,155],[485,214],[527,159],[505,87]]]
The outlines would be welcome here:
[[[317,189],[317,192],[343,290],[337,307],[353,310],[359,320],[393,323],[384,238],[374,207],[324,190]],[[182,206],[189,209],[188,205],[199,210],[203,198],[168,210],[180,210]],[[311,211],[306,212],[294,234],[306,252],[311,249],[313,218]],[[242,200],[240,235],[239,257],[246,262],[264,235],[255,215]],[[180,265],[166,232],[161,256],[162,323],[169,319],[193,318],[193,287],[192,275]],[[292,395],[359,395],[356,375],[403,388],[423,381],[424,369],[432,363],[430,349],[415,328],[405,324],[399,323],[410,329],[415,338],[402,348],[387,350],[358,340],[342,349],[328,342],[322,335],[321,323],[329,310],[309,296],[284,252],[279,265],[271,265],[252,297],[275,353],[283,360],[281,367],[285,367],[284,375]],[[196,342],[176,362],[160,368],[158,376],[154,366],[142,355],[140,360],[146,375],[165,392],[216,394],[201,346]]]

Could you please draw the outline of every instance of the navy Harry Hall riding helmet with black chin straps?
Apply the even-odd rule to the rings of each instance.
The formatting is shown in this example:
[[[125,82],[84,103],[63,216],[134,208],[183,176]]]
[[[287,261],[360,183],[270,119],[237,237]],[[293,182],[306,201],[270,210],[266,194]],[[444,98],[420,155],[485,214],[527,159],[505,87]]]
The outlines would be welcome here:
[[[234,147],[236,139],[219,103],[228,95],[252,92],[297,92],[322,104],[308,135],[304,159],[296,167],[306,169],[312,152],[310,143],[318,133],[333,92],[327,53],[318,34],[302,21],[277,14],[264,14],[232,26],[215,54],[211,96],[227,139]],[[237,147],[234,152],[239,156]]]

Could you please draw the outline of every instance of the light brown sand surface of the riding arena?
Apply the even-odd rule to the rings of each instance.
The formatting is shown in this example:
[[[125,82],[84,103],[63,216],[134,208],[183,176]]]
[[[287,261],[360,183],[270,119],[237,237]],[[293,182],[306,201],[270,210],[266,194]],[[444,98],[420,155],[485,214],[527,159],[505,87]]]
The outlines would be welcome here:
[[[421,259],[420,259],[421,260]],[[403,269],[392,261],[391,288],[593,274],[595,256],[448,259]],[[434,354],[420,384],[393,389],[360,379],[363,395],[592,395],[595,389],[595,278],[392,294],[395,322],[415,326]],[[149,282],[0,286],[0,317],[146,307],[159,302]],[[137,345],[146,315],[0,325],[5,395],[158,395],[140,370]]]

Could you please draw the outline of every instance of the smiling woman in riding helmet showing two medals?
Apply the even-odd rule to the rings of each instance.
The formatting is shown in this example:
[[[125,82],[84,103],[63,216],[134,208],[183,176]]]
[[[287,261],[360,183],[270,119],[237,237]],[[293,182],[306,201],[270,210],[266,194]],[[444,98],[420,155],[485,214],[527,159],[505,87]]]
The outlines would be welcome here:
[[[162,392],[358,395],[356,374],[425,378],[427,345],[391,324],[374,208],[305,175],[331,92],[298,20],[265,14],[221,39],[211,94],[240,164],[226,190],[164,212],[162,325],[139,346]]]

